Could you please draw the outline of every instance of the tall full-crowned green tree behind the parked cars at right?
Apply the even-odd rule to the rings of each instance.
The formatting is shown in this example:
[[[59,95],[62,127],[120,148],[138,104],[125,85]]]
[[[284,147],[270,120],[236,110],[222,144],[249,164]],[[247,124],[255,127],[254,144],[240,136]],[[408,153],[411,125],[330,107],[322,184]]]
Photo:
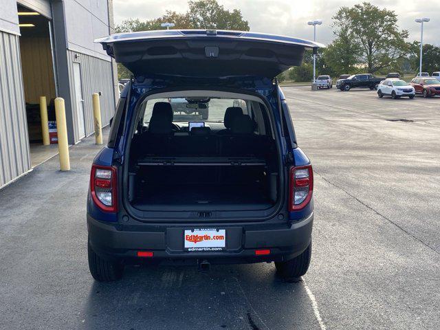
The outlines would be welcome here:
[[[360,45],[360,61],[371,74],[391,67],[408,53],[408,31],[398,29],[397,15],[392,10],[364,2],[341,7],[333,22],[338,37],[346,35]]]

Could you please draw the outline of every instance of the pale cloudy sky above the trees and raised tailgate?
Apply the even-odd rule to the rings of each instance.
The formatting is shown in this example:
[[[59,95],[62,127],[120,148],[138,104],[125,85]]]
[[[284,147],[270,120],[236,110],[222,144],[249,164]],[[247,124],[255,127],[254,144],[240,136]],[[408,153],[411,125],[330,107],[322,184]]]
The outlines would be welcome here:
[[[249,21],[250,30],[271,34],[283,34],[313,40],[313,27],[307,21],[322,19],[317,27],[316,41],[331,43],[333,31],[331,17],[341,6],[352,6],[362,1],[351,0],[218,0],[225,9],[239,9]],[[373,5],[394,10],[401,30],[408,30],[408,41],[420,40],[420,23],[414,19],[430,17],[423,28],[423,43],[440,46],[440,1],[423,0],[371,0]],[[124,19],[155,19],[166,10],[186,12],[186,0],[113,0],[115,24]]]

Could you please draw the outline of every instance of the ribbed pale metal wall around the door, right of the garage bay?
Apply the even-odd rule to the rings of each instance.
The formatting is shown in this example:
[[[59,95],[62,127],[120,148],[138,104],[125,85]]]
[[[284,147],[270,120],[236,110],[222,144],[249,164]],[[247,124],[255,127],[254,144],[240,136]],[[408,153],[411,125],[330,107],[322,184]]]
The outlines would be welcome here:
[[[84,99],[84,120],[85,133],[90,135],[94,133],[94,117],[93,107],[91,102],[91,94],[101,92],[101,118],[102,126],[109,124],[110,118],[115,113],[115,96],[113,90],[113,77],[111,62],[104,61],[101,58],[72,52],[67,50],[67,63],[69,70],[69,86],[70,96],[72,100],[72,117],[74,121],[74,135],[75,141],[78,141],[78,122],[76,109],[76,95],[74,82],[74,63],[80,63],[81,70],[81,85],[83,87]]]

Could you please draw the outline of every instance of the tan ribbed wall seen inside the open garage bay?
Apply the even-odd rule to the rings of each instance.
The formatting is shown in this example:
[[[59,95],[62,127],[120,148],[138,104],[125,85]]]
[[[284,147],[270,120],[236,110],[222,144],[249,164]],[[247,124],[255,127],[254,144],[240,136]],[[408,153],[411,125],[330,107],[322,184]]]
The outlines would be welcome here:
[[[40,96],[47,102],[56,98],[50,39],[22,36],[20,51],[26,102],[39,103]]]

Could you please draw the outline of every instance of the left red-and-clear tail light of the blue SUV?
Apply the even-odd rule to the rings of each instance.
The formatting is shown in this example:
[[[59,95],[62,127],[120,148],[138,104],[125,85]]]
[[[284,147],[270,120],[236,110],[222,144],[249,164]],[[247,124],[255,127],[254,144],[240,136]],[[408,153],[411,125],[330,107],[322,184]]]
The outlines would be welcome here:
[[[112,166],[92,165],[90,173],[90,193],[96,206],[102,211],[118,211],[116,168]]]

